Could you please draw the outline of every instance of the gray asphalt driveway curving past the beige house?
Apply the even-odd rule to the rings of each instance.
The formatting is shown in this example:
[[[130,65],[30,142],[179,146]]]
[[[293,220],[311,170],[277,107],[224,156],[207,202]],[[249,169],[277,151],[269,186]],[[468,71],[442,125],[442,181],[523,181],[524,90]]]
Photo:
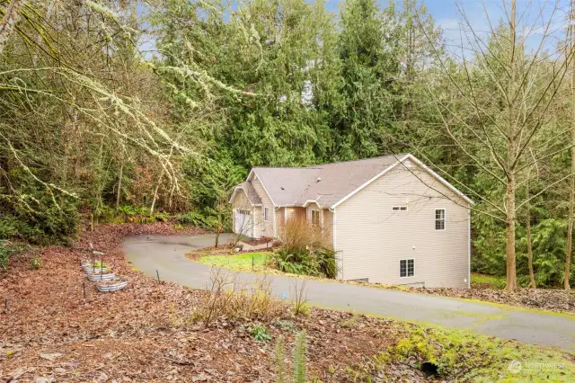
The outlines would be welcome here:
[[[221,242],[226,241],[226,236]],[[208,289],[210,268],[184,255],[214,244],[213,235],[130,236],[124,241],[128,261],[141,272],[163,281],[174,281],[194,289]],[[237,273],[237,281],[252,285],[261,274]],[[270,275],[273,294],[294,296],[295,283],[303,280]],[[481,334],[520,342],[560,347],[575,351],[575,316],[535,310],[501,307],[457,298],[446,298],[391,289],[377,289],[331,281],[305,281],[311,305],[385,316],[447,327],[466,328]]]

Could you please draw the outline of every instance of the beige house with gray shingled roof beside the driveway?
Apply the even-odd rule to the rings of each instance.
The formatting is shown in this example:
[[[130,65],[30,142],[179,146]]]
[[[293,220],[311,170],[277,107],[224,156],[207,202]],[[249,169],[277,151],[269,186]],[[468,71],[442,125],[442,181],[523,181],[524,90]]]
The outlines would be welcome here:
[[[321,227],[338,278],[467,288],[473,201],[410,154],[307,167],[254,167],[234,189],[234,232]]]

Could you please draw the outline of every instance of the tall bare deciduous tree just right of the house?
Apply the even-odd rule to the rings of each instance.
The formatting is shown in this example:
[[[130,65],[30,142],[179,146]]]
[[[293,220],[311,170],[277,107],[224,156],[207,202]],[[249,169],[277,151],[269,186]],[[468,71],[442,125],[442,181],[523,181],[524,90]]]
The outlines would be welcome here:
[[[517,0],[502,1],[504,22],[494,26],[483,4],[490,25],[487,34],[478,31],[459,6],[462,44],[454,55],[463,65],[454,69],[437,52],[450,89],[439,94],[428,86],[447,138],[504,190],[500,200],[474,197],[492,210],[492,217],[505,222],[509,290],[517,288],[517,211],[567,178],[558,177],[544,190],[517,200],[526,169],[571,147],[564,144],[564,135],[549,135],[547,129],[549,111],[571,66],[573,52],[549,51],[559,1],[546,5],[545,14],[542,6],[536,17],[529,19],[525,10],[517,10]],[[537,43],[530,49],[533,40]],[[534,148],[535,157],[527,155],[529,148]]]

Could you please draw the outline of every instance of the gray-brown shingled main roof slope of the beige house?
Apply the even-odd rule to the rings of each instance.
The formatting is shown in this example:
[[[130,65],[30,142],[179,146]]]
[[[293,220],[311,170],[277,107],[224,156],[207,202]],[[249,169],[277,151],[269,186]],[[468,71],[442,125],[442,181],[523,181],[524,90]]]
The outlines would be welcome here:
[[[306,200],[316,200],[326,208],[394,165],[403,156],[380,156],[308,167],[254,167],[253,172],[277,206],[302,206]],[[321,181],[318,182],[318,178]]]

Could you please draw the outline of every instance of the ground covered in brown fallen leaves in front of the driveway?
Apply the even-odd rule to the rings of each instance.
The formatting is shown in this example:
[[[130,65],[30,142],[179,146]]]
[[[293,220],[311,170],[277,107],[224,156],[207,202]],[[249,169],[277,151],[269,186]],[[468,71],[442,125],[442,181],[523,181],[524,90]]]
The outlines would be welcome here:
[[[192,321],[204,291],[135,272],[121,252],[125,236],[196,233],[195,228],[175,231],[169,223],[102,225],[84,232],[72,247],[38,250],[38,270],[29,268],[35,254],[16,259],[0,275],[0,296],[7,299],[7,308],[0,310],[0,377],[21,382],[273,382],[275,342],[252,337],[259,323],[224,317],[206,328]],[[85,279],[80,260],[88,256],[89,243],[106,254],[111,270],[128,277],[128,289],[99,293]],[[429,355],[418,351],[419,343],[415,349],[403,344],[416,325],[315,308],[309,316],[294,316],[287,309],[281,318],[261,325],[273,340],[282,335],[288,349],[305,329],[308,369],[316,381],[426,380],[416,367]],[[399,350],[398,344],[399,354],[374,358]],[[442,346],[433,347],[441,351]],[[289,364],[289,350],[286,355]]]

